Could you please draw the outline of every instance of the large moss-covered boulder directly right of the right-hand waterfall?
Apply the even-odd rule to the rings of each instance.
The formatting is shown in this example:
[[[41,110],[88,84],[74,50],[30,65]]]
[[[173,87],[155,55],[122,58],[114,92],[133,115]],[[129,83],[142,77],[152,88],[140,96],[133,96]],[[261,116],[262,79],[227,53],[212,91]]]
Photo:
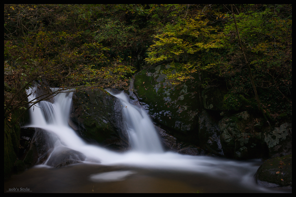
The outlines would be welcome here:
[[[194,143],[198,139],[197,120],[202,107],[198,78],[173,85],[163,73],[168,66],[139,72],[135,76],[134,92],[155,121],[175,131],[172,134],[177,138]]]

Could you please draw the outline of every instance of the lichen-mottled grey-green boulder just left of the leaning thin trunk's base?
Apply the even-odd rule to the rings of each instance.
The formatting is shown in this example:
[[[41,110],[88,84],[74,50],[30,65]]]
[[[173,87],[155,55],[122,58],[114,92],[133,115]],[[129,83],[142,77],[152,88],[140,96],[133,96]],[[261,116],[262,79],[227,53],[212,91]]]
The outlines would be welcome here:
[[[226,157],[252,159],[267,156],[268,149],[261,143],[261,132],[255,129],[253,118],[247,111],[222,118],[219,128]]]

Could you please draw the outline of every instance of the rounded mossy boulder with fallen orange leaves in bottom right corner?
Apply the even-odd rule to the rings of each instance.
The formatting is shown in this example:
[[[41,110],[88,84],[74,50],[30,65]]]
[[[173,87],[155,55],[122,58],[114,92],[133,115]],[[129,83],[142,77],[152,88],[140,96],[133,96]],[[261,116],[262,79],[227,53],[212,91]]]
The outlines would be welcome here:
[[[292,154],[265,161],[257,170],[255,180],[265,187],[292,189]]]

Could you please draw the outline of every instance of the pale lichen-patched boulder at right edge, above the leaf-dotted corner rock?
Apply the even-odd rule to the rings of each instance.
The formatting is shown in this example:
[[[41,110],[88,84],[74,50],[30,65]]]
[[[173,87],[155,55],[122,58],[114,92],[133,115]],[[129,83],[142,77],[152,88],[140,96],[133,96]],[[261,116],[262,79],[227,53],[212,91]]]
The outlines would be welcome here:
[[[292,123],[283,123],[273,129],[263,129],[262,141],[268,147],[269,157],[292,154]]]

